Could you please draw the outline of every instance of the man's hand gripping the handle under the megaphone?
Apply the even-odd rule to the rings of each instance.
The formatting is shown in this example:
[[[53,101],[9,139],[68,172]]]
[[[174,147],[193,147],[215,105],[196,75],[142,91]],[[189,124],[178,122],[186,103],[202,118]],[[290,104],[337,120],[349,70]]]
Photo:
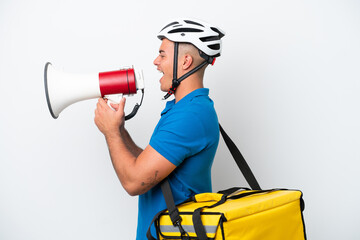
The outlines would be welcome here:
[[[107,105],[107,100],[99,98],[95,109],[95,124],[99,130],[107,136],[119,135],[120,131],[124,129],[125,123],[125,98],[122,98],[119,104],[112,104],[111,109]]]

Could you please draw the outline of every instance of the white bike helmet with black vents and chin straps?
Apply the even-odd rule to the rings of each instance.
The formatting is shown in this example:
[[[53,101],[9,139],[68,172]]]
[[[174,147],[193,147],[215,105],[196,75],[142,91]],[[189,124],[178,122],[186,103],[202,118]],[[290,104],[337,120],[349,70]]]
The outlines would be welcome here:
[[[167,38],[174,42],[174,71],[172,86],[168,93],[164,96],[164,99],[167,99],[175,93],[176,88],[182,80],[198,71],[203,66],[207,64],[214,64],[215,58],[219,57],[221,54],[221,38],[224,36],[225,32],[221,29],[212,26],[209,23],[190,18],[182,18],[171,21],[163,29],[161,29],[157,37],[160,40]],[[199,49],[199,54],[205,59],[205,61],[180,78],[177,78],[179,43],[193,44]]]

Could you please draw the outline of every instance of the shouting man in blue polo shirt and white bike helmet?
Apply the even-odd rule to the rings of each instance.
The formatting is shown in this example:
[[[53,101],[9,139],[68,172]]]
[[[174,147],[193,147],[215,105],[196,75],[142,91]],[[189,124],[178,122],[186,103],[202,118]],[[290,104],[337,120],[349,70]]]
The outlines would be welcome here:
[[[149,145],[142,150],[125,129],[125,98],[118,105],[99,99],[95,123],[105,135],[114,169],[124,189],[139,196],[137,239],[146,239],[154,215],[166,208],[160,182],[169,180],[175,203],[211,191],[211,166],[219,142],[218,119],[203,86],[205,68],[220,56],[224,33],[207,23],[178,19],[158,34],[154,65],[160,88],[174,94],[161,113]],[[154,229],[152,229],[154,235]]]

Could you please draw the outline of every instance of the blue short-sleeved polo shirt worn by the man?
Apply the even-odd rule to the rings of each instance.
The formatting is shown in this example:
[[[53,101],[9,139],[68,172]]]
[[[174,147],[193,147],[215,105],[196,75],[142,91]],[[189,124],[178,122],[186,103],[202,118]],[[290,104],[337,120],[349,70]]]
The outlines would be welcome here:
[[[219,125],[209,89],[197,89],[175,104],[166,103],[150,145],[176,165],[168,176],[175,203],[211,192],[211,166],[219,143]],[[146,240],[151,220],[166,209],[160,184],[139,196],[137,240]],[[152,226],[152,234],[156,236]]]

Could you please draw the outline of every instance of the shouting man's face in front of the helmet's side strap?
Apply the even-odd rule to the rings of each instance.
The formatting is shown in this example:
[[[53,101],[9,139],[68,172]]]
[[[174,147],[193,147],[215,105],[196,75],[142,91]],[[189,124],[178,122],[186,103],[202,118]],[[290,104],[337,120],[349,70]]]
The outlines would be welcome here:
[[[162,40],[159,55],[154,60],[157,70],[163,74],[160,79],[160,89],[163,92],[169,91],[173,78],[174,43],[164,38]]]

